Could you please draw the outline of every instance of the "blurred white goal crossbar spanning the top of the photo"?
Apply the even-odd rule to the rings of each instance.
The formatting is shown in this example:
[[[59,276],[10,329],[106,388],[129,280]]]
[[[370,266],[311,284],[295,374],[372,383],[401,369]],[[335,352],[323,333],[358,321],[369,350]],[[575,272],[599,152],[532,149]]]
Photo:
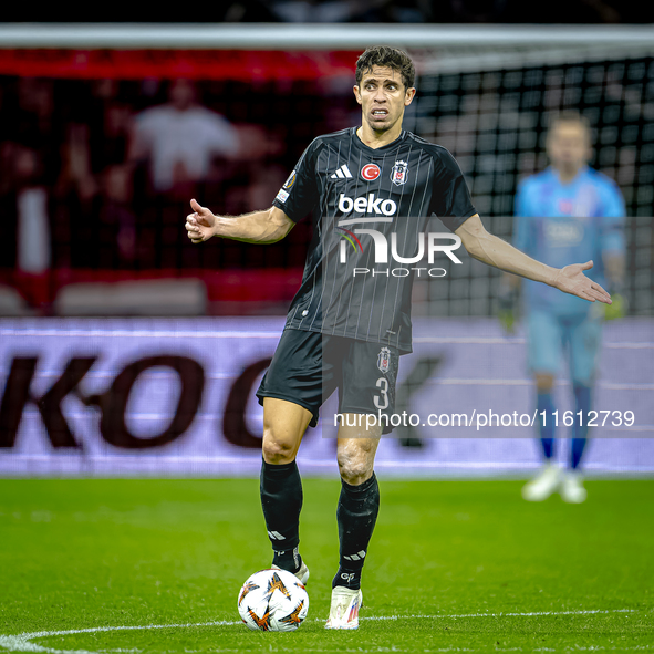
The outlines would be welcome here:
[[[654,24],[357,23],[14,23],[0,24],[0,49],[361,50],[412,52],[418,74],[517,62],[646,56]]]

